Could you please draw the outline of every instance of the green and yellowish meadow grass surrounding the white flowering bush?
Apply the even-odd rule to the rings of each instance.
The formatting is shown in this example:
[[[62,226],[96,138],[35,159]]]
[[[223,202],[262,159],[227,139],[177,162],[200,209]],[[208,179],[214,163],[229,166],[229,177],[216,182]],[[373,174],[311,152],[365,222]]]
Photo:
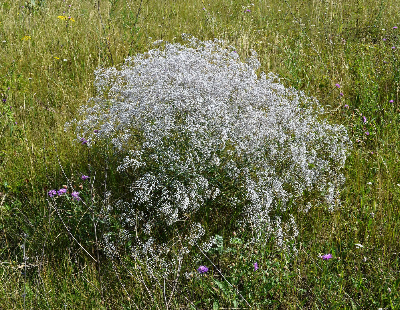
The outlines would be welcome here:
[[[397,0],[3,1],[0,309],[23,309],[24,287],[27,309],[246,308],[243,298],[254,309],[398,309],[396,25]],[[279,74],[285,86],[318,98],[332,122],[344,124],[354,141],[341,207],[333,213],[314,207],[306,215],[296,214],[295,258],[287,260],[272,246],[254,248],[230,240],[233,232],[242,239],[249,232],[230,231],[228,214],[210,219],[226,226],[224,244],[212,259],[235,288],[214,269],[213,276],[200,280],[163,284],[128,258],[110,262],[102,257],[96,264],[47,202],[52,184],[66,183],[60,167],[76,180],[88,170],[90,158],[98,180],[104,178],[105,163],[76,146],[72,132],[64,132],[64,123],[94,95],[94,70],[118,66],[158,39],[181,42],[182,33],[201,40],[222,38],[242,58],[256,50],[262,71]],[[110,158],[107,176],[110,190],[118,193],[128,181],[116,174],[115,161]],[[86,235],[77,232],[75,219],[74,214],[65,217],[68,229],[95,255],[91,228]],[[30,256],[26,280],[20,248],[24,234]],[[364,247],[356,248],[358,243]],[[319,253],[332,253],[334,259],[322,261]],[[248,267],[254,261],[262,272]]]

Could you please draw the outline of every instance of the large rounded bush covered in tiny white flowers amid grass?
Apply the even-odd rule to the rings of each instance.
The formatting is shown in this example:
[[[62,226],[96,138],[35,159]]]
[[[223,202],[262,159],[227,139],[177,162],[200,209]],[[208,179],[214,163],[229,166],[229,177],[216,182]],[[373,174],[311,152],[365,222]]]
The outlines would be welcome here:
[[[71,122],[77,141],[108,140],[119,154],[132,200],[118,210],[131,234],[151,235],[188,215],[201,222],[212,206],[238,212],[236,224],[251,229],[254,242],[274,235],[290,250],[298,230],[289,208],[340,203],[346,129],[329,124],[315,98],[258,73],[254,51],[242,61],[223,41],[183,38],[154,42],[119,70],[97,70],[97,96]],[[188,244],[206,233],[191,227]],[[154,242],[136,241],[135,255],[157,252]]]

